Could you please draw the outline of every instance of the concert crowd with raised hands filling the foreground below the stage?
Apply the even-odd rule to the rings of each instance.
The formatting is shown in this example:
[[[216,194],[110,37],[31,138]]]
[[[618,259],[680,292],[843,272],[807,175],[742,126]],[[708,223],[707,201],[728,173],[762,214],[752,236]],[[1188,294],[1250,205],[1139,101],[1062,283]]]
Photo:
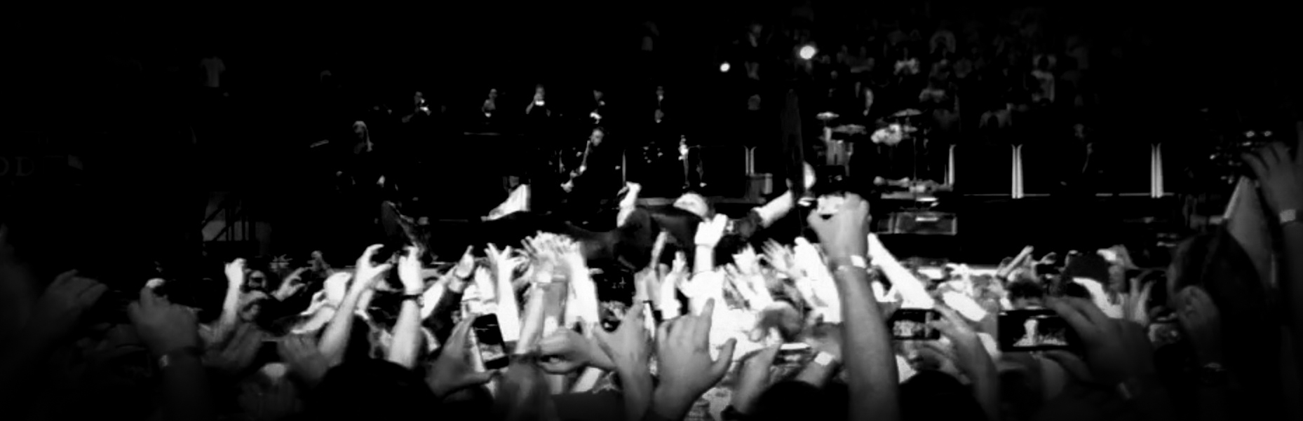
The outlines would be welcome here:
[[[1299,158],[1273,146],[1248,159],[1269,211],[1303,205]],[[1225,312],[1243,305],[1216,282],[1138,271],[1124,248],[1066,267],[1028,248],[932,279],[869,232],[859,197],[808,223],[817,244],[747,246],[731,262],[715,262],[723,218],[678,241],[692,246],[662,233],[614,295],[582,244],[550,233],[448,265],[373,245],[352,267],[315,262],[257,287],[270,274],[236,259],[215,318],[169,301],[185,280],[158,279],[125,319],[94,319],[108,288],[70,271],[7,335],[0,396],[13,420],[1225,418],[1252,401],[1259,373],[1239,371],[1225,339]],[[1281,225],[1286,252],[1298,229]],[[1105,275],[1059,275],[1096,255]],[[1294,315],[1285,285],[1299,271],[1281,262]],[[939,339],[894,338],[902,309],[936,310]],[[1002,349],[1001,314],[1025,309],[1057,314],[1079,347]],[[506,356],[486,351],[496,344]],[[1174,386],[1186,371],[1165,369],[1167,348],[1192,351],[1199,387]]]

